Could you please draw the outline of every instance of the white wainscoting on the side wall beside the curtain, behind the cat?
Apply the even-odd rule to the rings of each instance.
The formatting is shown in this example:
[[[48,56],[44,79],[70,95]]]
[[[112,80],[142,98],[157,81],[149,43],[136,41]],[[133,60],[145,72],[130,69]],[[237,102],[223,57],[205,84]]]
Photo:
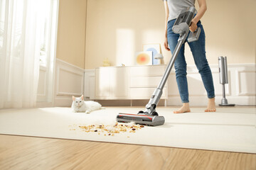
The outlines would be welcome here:
[[[71,106],[84,92],[84,69],[56,59],[54,106]]]

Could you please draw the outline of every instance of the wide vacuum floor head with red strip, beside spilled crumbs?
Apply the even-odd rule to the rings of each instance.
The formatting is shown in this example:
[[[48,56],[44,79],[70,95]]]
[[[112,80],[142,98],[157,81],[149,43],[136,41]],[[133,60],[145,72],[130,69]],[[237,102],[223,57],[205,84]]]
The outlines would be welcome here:
[[[164,116],[158,115],[146,115],[146,114],[129,114],[129,113],[119,113],[117,115],[117,122],[119,123],[130,123],[134,122],[140,125],[164,125]]]

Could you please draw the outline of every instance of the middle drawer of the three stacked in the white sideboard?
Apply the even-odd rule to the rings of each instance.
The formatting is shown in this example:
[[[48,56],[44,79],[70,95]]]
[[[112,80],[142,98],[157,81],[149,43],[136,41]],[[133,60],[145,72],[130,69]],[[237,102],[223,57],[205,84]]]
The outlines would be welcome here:
[[[156,88],[159,85],[161,78],[162,77],[131,77],[130,87],[154,87],[154,88]]]

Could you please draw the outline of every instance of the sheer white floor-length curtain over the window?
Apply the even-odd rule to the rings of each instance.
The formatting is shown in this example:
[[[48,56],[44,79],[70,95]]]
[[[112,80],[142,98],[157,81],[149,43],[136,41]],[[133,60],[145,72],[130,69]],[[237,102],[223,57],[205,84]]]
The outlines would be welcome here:
[[[36,106],[43,0],[0,0],[0,108]]]

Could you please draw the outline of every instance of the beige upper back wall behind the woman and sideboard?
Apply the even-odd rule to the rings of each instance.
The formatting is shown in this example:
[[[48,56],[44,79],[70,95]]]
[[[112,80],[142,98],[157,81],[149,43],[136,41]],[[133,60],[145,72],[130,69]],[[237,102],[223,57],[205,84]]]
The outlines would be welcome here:
[[[218,64],[218,57],[227,56],[230,64],[255,64],[256,1],[206,2],[208,9],[201,21],[208,62]],[[164,18],[161,0],[88,0],[85,69],[102,66],[105,57],[112,66],[134,64],[135,52],[150,43],[161,44],[167,64],[171,52],[163,46]],[[194,64],[187,45],[185,55],[187,63]]]

